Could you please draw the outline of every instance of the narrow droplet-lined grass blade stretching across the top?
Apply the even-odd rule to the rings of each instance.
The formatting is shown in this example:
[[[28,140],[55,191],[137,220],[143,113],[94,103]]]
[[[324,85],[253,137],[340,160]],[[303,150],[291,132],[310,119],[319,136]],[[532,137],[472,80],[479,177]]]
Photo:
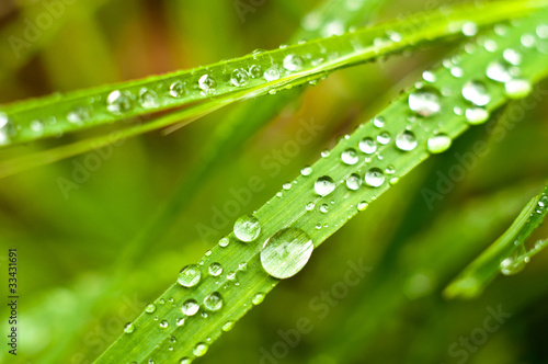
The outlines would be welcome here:
[[[220,102],[277,92],[343,67],[460,33],[463,25],[470,22],[482,26],[527,14],[546,4],[548,0],[501,1],[481,9],[468,4],[189,71],[5,105],[0,113],[0,144],[59,136],[212,99]],[[243,95],[233,98],[238,93]]]

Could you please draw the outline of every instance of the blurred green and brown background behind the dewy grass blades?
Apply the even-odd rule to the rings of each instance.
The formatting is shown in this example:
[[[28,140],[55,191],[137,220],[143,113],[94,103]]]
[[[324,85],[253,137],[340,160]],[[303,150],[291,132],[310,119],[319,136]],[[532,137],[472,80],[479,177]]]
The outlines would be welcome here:
[[[52,26],[14,52],[10,36],[53,2],[0,2],[1,103],[275,48],[320,3],[255,1],[261,4],[241,16],[235,1],[67,1]],[[376,20],[447,2],[386,0]],[[150,133],[0,180],[2,293],[7,251],[14,247],[21,295],[20,352],[13,360],[3,348],[0,361],[91,363],[182,266],[229,232],[239,215],[260,207],[320,150],[373,116],[456,45],[354,67],[307,87],[302,98],[209,171],[189,194],[185,208],[130,261],[124,257],[136,237],[201,164],[199,152],[213,130],[238,105],[169,135]],[[441,295],[540,191],[548,175],[547,91],[545,82],[530,96],[540,95],[535,109],[515,102],[510,117],[468,132],[449,151],[423,163],[331,237],[300,274],[279,284],[196,363],[548,363],[548,254],[535,257],[515,276],[499,276],[476,300],[447,302]],[[321,133],[279,170],[265,168],[265,158],[296,138],[301,120],[322,125]],[[21,146],[0,158],[94,133]],[[489,143],[489,153],[465,168],[441,201],[426,201],[424,189],[439,191],[441,181],[450,180],[452,169],[461,166],[457,153],[466,153],[478,139]],[[91,159],[99,160],[93,170],[85,167]],[[75,181],[75,175],[76,186],[64,190],[59,181]],[[244,187],[253,175],[264,189],[251,203],[224,213],[226,219],[207,237],[198,234],[199,224],[212,227],[218,211],[235,201],[231,190]],[[544,227],[532,241],[547,237]],[[372,271],[344,288],[349,262],[363,262]],[[123,277],[107,289],[121,263]],[[5,306],[1,310],[7,317]],[[493,310],[511,317],[499,317],[496,323],[490,319]],[[284,337],[295,333],[301,317],[313,329],[299,333],[298,344],[292,345]],[[7,322],[0,326],[3,334]]]

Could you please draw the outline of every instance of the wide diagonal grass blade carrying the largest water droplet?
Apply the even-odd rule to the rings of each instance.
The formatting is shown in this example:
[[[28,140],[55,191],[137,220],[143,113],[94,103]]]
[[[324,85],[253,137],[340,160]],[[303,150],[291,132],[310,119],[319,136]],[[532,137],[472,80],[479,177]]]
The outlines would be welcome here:
[[[544,30],[546,16],[543,11],[498,26],[496,32],[467,44],[452,59],[468,77],[454,77],[455,71],[445,67],[425,73],[423,82],[386,107],[374,123],[341,138],[253,215],[238,219],[235,232],[197,264],[185,268],[179,283],[127,326],[96,363],[190,362],[204,355],[222,331],[263,300],[278,278],[304,268],[312,246],[320,246],[431,153],[447,150],[470,125],[487,122],[510,99],[525,96],[532,83],[548,72],[548,38],[538,32],[534,46],[527,47],[522,35]],[[499,50],[483,46],[486,39]],[[493,72],[494,64],[501,70],[505,49],[513,49],[514,56],[518,49],[522,55],[512,73],[520,73],[520,79],[503,80],[501,72]],[[179,350],[170,349],[179,346],[174,342],[181,343]]]

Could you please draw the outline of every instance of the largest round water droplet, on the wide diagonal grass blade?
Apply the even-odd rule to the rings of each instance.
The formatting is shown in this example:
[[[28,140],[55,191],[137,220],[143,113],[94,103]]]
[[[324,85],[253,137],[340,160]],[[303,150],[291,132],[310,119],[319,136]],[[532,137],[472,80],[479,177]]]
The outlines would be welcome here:
[[[305,268],[312,250],[312,240],[305,231],[297,228],[282,229],[264,242],[261,263],[273,277],[288,278]]]

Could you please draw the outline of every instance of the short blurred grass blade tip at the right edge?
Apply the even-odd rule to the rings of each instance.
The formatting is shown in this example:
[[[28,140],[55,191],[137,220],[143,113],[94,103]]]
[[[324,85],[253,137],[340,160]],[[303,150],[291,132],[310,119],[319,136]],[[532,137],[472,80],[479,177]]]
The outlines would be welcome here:
[[[460,275],[445,288],[447,298],[473,298],[499,274],[516,274],[533,255],[546,247],[546,240],[527,250],[525,242],[539,227],[548,213],[548,185],[523,208],[512,226],[471,262]]]

